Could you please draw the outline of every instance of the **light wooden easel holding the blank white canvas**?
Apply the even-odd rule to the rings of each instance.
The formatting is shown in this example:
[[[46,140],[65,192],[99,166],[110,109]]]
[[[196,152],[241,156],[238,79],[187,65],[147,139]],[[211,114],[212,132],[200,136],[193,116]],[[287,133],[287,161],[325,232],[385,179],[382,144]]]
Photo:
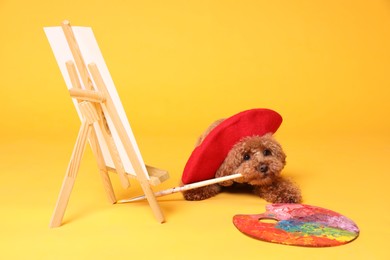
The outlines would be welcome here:
[[[118,149],[114,142],[106,115],[108,114],[120,141],[125,148],[125,152],[135,171],[136,179],[139,181],[143,192],[149,202],[154,216],[160,223],[164,222],[164,216],[157,203],[150,185],[156,185],[168,178],[168,173],[154,167],[146,166],[149,179],[145,176],[143,165],[136,155],[136,151],[126,132],[121,118],[115,108],[114,102],[106,88],[103,78],[96,64],[85,64],[72,27],[68,21],[62,23],[62,29],[67,43],[74,58],[73,61],[66,62],[66,68],[71,80],[72,88],[69,89],[70,96],[77,99],[78,108],[82,115],[82,123],[73,153],[66,171],[65,179],[57,200],[57,204],[50,221],[50,227],[61,225],[65,210],[72,192],[76,176],[80,167],[80,162],[84,154],[87,140],[89,140],[92,152],[96,158],[100,175],[103,179],[104,189],[111,203],[116,202],[114,190],[108,175],[108,171],[118,174],[120,182],[124,188],[129,187],[128,176],[125,172]],[[92,78],[91,78],[91,76]],[[80,81],[81,80],[81,81]],[[82,88],[82,84],[84,88]],[[96,128],[99,128],[107,144],[110,156],[115,165],[115,169],[106,166],[101,147],[98,142]]]

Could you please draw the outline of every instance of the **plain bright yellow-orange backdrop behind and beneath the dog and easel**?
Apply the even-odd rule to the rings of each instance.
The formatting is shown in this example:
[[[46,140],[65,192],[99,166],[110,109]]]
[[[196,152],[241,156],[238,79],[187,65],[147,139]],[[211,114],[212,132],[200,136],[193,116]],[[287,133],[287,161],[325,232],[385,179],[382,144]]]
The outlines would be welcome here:
[[[91,26],[143,158],[176,186],[217,118],[272,108],[284,173],[304,202],[345,214],[360,237],[308,249],[241,234],[235,214],[266,202],[223,193],[110,205],[86,150],[64,225],[48,223],[80,125],[43,32]],[[386,259],[390,236],[388,1],[0,1],[0,256],[5,259]],[[140,195],[137,183],[117,198]]]

